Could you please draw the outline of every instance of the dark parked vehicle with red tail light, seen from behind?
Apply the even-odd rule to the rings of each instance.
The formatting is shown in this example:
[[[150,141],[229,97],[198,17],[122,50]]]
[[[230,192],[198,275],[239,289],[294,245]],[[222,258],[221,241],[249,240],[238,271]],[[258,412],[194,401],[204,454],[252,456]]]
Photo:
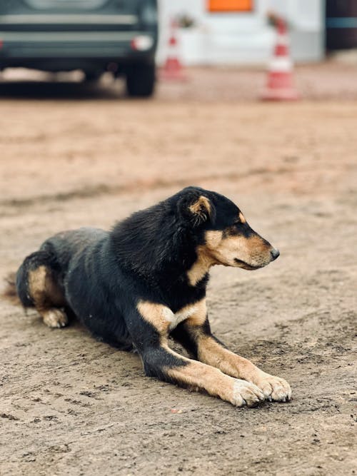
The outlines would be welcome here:
[[[156,0],[1,0],[0,70],[108,69],[129,96],[151,96],[158,36]]]

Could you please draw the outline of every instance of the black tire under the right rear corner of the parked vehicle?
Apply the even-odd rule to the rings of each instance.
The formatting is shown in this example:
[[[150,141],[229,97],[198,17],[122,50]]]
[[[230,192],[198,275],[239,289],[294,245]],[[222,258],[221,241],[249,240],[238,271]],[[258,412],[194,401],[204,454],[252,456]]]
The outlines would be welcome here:
[[[128,96],[149,98],[154,94],[156,69],[154,63],[136,63],[126,71],[126,92]]]

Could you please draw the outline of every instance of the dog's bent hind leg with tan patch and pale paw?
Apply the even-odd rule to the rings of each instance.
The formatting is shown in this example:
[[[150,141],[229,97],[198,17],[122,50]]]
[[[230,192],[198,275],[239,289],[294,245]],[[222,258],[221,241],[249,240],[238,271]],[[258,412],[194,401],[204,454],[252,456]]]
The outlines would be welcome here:
[[[68,324],[66,306],[56,256],[39,250],[25,258],[16,273],[16,291],[24,308],[35,308],[49,328]]]

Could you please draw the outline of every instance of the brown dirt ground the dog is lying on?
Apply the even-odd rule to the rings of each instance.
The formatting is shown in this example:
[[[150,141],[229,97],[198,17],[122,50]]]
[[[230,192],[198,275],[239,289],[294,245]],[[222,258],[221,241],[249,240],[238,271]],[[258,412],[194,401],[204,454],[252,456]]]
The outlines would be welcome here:
[[[356,73],[301,67],[307,99],[281,104],[255,101],[262,71],[192,70],[153,101],[105,79],[0,83],[1,278],[52,233],[211,188],[281,250],[254,272],[213,269],[211,326],[293,388],[235,408],[1,301],[1,475],[357,472]]]

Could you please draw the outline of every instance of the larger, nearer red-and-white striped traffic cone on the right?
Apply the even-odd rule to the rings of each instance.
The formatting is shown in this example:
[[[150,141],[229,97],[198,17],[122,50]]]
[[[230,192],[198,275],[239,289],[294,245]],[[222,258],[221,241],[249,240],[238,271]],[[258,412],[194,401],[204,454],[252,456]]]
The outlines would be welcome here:
[[[266,101],[296,101],[298,91],[293,83],[293,63],[289,54],[288,31],[283,19],[276,21],[276,46],[268,69],[266,87],[261,99]]]

